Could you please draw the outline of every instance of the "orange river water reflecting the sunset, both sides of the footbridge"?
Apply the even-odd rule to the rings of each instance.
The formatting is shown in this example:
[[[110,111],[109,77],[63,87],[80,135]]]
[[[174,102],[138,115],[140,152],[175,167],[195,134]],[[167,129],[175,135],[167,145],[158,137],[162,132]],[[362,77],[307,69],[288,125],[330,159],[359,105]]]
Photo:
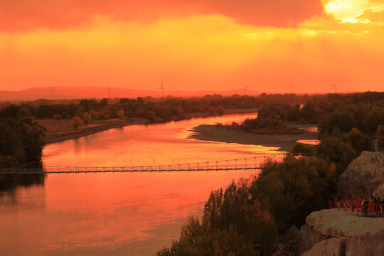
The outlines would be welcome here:
[[[134,125],[49,144],[44,165],[147,166],[270,156],[277,148],[188,139],[227,114]],[[48,174],[0,188],[0,255],[154,255],[201,215],[210,191],[255,171]],[[11,181],[10,181],[11,182]]]

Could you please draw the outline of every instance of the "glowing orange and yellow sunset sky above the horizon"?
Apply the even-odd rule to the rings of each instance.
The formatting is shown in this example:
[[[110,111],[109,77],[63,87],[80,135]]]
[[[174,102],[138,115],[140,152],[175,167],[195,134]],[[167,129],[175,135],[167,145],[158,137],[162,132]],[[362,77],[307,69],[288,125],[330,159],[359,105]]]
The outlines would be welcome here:
[[[383,91],[383,41],[383,0],[0,0],[0,90]]]

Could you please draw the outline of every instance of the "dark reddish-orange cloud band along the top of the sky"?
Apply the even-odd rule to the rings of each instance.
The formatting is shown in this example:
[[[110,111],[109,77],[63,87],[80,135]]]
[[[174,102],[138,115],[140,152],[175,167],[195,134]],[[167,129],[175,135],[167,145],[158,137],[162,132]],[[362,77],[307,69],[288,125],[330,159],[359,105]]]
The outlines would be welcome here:
[[[323,14],[321,0],[0,0],[0,30],[65,29],[94,16],[117,21],[220,14],[253,26],[295,26]]]

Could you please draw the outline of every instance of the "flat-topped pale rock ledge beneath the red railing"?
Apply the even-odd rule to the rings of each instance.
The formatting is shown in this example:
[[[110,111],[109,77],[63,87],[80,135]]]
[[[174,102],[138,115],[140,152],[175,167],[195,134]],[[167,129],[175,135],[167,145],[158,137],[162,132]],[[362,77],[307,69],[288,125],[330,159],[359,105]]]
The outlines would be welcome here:
[[[300,253],[314,255],[384,255],[384,218],[358,217],[337,209],[306,217],[300,230]]]

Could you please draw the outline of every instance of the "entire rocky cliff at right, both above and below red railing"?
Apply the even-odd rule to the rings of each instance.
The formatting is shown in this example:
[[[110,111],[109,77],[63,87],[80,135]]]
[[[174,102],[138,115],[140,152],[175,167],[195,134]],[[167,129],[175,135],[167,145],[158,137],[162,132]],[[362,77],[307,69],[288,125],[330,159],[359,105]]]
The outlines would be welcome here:
[[[343,198],[384,198],[384,152],[363,151],[339,180]],[[359,217],[351,210],[327,209],[306,217],[299,238],[275,256],[384,255],[384,218]]]

